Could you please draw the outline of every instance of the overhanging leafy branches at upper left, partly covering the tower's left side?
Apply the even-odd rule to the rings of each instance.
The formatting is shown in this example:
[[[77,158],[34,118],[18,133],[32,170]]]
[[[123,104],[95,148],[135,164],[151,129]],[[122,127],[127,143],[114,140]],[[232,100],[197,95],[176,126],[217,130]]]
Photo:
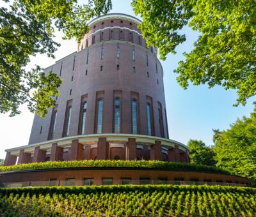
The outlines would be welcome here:
[[[20,113],[19,106],[28,104],[31,112],[42,117],[54,107],[61,79],[51,71],[45,75],[36,66],[24,67],[29,57],[47,54],[54,57],[57,47],[54,26],[63,31],[65,39],[81,39],[88,31],[92,17],[108,13],[110,0],[89,0],[79,5],[76,0],[13,0],[0,8],[0,112],[10,116]]]

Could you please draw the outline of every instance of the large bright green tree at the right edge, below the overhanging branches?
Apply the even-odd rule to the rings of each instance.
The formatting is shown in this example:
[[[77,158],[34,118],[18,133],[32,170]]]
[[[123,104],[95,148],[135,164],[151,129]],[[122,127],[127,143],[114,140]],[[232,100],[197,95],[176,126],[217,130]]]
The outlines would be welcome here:
[[[214,130],[214,143],[218,167],[256,183],[256,106],[250,117],[237,119],[230,129]]]

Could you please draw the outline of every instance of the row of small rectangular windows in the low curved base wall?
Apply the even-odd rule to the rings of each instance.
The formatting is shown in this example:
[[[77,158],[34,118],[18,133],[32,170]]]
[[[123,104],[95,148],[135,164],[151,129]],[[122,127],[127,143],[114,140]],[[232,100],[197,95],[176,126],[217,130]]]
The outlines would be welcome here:
[[[204,179],[203,181],[205,184],[211,184],[212,180],[211,179]],[[167,178],[163,178],[163,177],[159,177],[156,180],[150,179],[150,178],[145,178],[145,177],[141,177],[139,180],[140,184],[199,184],[199,180],[198,179],[190,179],[189,181],[184,181],[183,178],[177,178],[174,179],[173,181],[168,180]],[[218,180],[214,183],[223,183],[222,180]],[[225,183],[232,183],[232,181],[225,181]],[[239,182],[235,182],[235,183],[239,183]],[[95,184],[94,179],[93,178],[84,178],[83,179],[83,185],[93,185]],[[111,185],[113,184],[113,178],[110,177],[104,177],[102,178],[102,185]],[[121,178],[120,179],[120,184],[137,184],[134,180],[132,180],[129,177],[126,178]],[[49,186],[58,186],[59,182],[57,179],[49,179]],[[75,178],[68,178],[65,179],[65,186],[74,186],[76,185],[76,179]]]

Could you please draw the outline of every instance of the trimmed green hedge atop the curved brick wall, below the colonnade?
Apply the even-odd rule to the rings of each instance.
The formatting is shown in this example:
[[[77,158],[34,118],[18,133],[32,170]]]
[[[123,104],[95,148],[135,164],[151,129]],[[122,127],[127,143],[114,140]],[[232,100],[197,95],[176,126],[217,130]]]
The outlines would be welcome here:
[[[86,168],[154,168],[164,170],[184,170],[196,172],[214,172],[218,174],[230,174],[227,170],[207,165],[197,165],[193,163],[177,163],[168,161],[146,161],[146,160],[80,160],[80,161],[47,161],[38,163],[24,163],[19,165],[1,166],[0,172],[20,171],[20,170],[35,170],[44,168],[71,168],[71,167],[86,167]]]

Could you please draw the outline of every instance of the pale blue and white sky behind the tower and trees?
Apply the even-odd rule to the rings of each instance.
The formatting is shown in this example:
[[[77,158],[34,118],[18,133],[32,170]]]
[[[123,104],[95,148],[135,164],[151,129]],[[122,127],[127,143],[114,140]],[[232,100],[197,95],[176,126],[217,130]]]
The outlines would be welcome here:
[[[130,6],[131,1],[112,0],[112,2],[111,13],[126,13],[134,16]],[[186,42],[177,47],[177,54],[169,54],[165,61],[161,61],[170,138],[184,144],[193,138],[211,145],[212,129],[225,130],[236,121],[237,117],[249,116],[253,111],[252,102],[256,101],[256,98],[248,100],[246,106],[233,107],[237,98],[236,91],[225,91],[220,86],[208,89],[207,86],[190,85],[187,90],[182,89],[176,82],[177,74],[173,73],[173,70],[177,68],[179,61],[184,59],[182,53],[193,49],[193,43],[198,37],[198,33],[191,31],[189,27],[182,29],[182,32],[186,34]],[[28,68],[35,64],[46,68],[56,60],[76,51],[76,40],[63,41],[61,36],[61,33],[56,33],[56,41],[61,43],[60,49],[55,54],[56,59],[38,55],[31,58]],[[28,144],[34,115],[25,106],[22,106],[21,110],[22,114],[15,117],[0,114],[0,158],[5,157],[4,149]]]

